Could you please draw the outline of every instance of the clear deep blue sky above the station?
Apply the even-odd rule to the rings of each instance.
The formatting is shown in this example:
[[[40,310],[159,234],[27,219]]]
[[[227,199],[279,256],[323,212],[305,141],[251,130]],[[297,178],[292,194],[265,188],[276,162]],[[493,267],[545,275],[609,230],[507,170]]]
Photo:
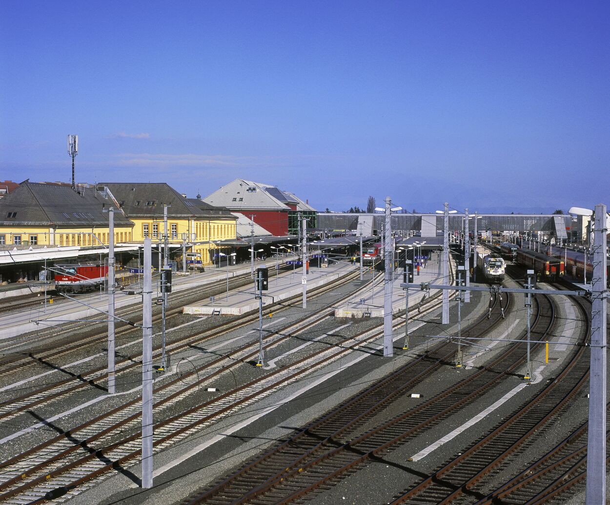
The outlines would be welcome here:
[[[4,1],[0,180],[610,205],[608,1]]]

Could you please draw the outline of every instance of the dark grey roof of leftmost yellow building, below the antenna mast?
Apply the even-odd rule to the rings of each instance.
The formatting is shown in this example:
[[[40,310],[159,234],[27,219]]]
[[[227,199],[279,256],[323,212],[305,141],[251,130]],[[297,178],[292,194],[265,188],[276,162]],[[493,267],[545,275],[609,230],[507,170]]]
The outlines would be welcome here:
[[[107,226],[114,203],[95,188],[23,182],[0,199],[0,226]],[[14,217],[13,217],[14,215]],[[121,212],[115,212],[117,227],[133,226]]]

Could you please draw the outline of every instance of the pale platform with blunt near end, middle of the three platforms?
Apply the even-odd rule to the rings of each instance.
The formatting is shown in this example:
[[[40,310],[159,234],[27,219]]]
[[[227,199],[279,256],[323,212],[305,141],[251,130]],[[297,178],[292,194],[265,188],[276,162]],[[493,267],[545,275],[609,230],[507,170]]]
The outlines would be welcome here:
[[[310,263],[312,264],[312,263]],[[274,265],[268,265],[270,270]],[[340,276],[357,271],[357,266],[351,263],[334,263],[328,268],[311,267],[307,275],[307,289],[311,290],[321,285],[335,281]],[[275,303],[303,293],[303,267],[296,267],[294,271],[283,272],[278,277],[269,278],[269,289],[263,292],[263,306]],[[237,292],[229,292],[229,298],[219,295],[207,302],[187,305],[185,314],[206,315],[241,315],[259,308],[259,301],[255,298],[254,281],[250,288],[242,288]]]

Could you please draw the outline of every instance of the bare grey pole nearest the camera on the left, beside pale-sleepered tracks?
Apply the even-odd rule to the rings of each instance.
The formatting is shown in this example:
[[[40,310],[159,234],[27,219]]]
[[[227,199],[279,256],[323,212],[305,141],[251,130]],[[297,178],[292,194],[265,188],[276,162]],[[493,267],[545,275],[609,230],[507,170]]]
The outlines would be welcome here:
[[[151,239],[144,239],[142,300],[142,487],[152,487],[152,272]]]

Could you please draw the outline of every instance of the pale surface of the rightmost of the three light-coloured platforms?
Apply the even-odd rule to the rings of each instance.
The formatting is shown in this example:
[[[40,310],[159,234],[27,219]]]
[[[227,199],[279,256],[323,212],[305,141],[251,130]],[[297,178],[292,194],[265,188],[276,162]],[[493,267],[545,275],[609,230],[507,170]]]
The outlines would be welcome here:
[[[370,268],[364,275],[364,281],[370,281],[372,277]],[[439,282],[442,281],[442,263],[438,260],[430,260],[425,268],[420,268],[420,274],[415,272],[413,282]],[[392,281],[392,311],[404,310],[405,290],[400,287],[403,282],[403,269],[398,268],[393,274]],[[431,290],[429,295],[434,295],[438,290]],[[409,310],[415,309],[425,292],[415,289],[409,290]],[[359,299],[352,299],[342,307],[335,310],[335,317],[362,318],[382,317],[384,315],[384,282],[383,278],[375,279],[375,287]]]

